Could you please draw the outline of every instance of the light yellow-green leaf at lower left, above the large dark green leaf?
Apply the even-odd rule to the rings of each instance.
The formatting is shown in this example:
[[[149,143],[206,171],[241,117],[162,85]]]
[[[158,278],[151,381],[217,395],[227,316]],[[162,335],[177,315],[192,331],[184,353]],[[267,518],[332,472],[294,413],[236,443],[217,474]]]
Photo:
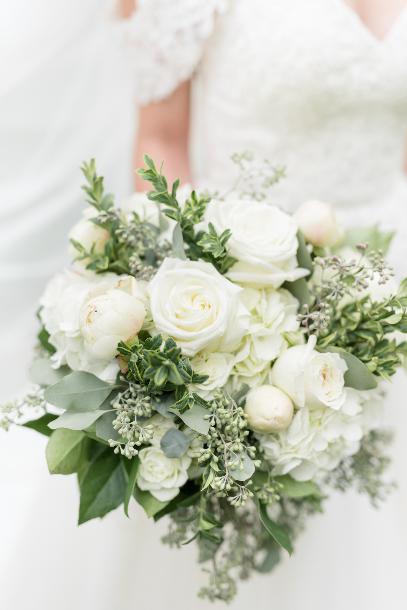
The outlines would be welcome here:
[[[83,432],[59,428],[52,432],[45,455],[51,475],[71,475],[87,463],[90,440]]]

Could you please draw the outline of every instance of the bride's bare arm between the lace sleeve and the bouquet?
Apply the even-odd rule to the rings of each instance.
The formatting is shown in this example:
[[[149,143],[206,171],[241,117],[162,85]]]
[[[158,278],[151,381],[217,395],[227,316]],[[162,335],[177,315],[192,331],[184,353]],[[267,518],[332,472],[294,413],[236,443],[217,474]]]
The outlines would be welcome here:
[[[188,159],[189,81],[182,83],[161,102],[140,108],[139,137],[135,148],[135,168],[145,167],[143,154],[153,157],[157,166],[165,160],[163,173],[168,184],[181,178],[191,182]],[[149,184],[136,176],[137,190]]]

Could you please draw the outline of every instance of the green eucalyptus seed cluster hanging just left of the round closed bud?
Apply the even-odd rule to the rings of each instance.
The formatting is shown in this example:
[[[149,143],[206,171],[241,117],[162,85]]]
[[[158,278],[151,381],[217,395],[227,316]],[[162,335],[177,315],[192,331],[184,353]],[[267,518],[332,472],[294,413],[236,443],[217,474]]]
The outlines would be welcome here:
[[[231,497],[231,501],[234,506],[244,506],[245,500],[252,494],[245,485],[240,486],[234,481],[232,473],[237,469],[243,472],[243,462],[247,456],[253,459],[255,467],[261,464],[255,459],[256,447],[247,443],[250,434],[247,429],[248,415],[225,390],[218,390],[205,419],[209,419],[209,431],[206,436],[199,437],[204,447],[198,450],[197,456],[198,463],[209,460],[206,485],[211,485],[218,498],[227,497],[231,490],[239,491]]]

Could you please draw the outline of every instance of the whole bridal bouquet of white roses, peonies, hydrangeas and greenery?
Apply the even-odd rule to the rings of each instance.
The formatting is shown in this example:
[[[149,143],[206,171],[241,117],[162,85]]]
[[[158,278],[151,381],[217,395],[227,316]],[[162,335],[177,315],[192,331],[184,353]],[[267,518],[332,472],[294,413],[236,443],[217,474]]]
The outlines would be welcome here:
[[[407,279],[392,289],[391,235],[356,243],[327,204],[198,197],[145,163],[154,190],[121,209],[84,164],[90,207],[41,298],[37,386],[3,426],[49,436],[79,524],[131,498],[170,515],[164,542],[216,559],[201,597],[229,601],[236,576],[292,552],[329,487],[386,493],[378,382],[407,354]]]

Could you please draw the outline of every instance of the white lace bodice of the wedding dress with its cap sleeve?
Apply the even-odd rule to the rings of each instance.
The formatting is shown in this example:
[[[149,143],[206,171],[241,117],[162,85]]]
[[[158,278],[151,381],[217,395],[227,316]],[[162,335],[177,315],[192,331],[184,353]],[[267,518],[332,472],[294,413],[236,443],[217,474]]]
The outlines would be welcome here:
[[[198,185],[228,187],[229,157],[249,149],[286,165],[270,193],[288,210],[306,198],[353,210],[394,190],[407,142],[407,9],[379,41],[342,0],[229,0],[222,14],[208,0],[139,4],[139,87],[143,61],[149,79],[140,99],[158,99],[196,66]],[[146,52],[148,14],[157,46]]]

